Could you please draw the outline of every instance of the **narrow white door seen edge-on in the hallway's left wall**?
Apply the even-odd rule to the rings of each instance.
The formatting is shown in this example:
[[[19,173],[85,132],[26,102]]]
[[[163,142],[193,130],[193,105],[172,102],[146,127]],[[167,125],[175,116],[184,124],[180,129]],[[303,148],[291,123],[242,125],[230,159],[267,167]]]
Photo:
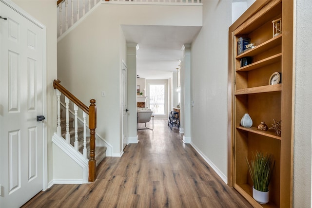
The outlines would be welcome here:
[[[122,62],[122,149],[128,144],[127,66]]]

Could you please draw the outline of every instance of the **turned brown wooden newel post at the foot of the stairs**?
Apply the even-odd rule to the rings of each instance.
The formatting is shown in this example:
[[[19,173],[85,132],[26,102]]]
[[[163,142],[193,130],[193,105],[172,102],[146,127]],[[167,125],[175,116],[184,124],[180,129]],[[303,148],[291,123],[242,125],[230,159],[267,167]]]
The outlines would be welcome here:
[[[94,182],[96,179],[96,160],[95,160],[95,149],[96,149],[96,128],[97,128],[97,107],[96,100],[91,99],[89,106],[89,129],[90,129],[90,159],[89,159],[89,182]]]

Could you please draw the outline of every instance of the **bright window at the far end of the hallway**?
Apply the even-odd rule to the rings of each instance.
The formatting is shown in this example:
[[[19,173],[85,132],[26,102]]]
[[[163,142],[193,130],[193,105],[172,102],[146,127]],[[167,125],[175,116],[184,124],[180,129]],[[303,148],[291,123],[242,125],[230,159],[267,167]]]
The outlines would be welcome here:
[[[165,114],[165,86],[150,85],[150,109],[154,114]]]

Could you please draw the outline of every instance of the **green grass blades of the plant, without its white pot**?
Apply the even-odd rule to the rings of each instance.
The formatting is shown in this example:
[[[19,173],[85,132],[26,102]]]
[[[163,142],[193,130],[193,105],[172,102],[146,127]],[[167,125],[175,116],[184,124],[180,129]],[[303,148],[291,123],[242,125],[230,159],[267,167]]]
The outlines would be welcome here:
[[[264,154],[262,152],[256,152],[250,163],[247,158],[246,161],[250,176],[254,183],[254,189],[263,192],[269,191],[272,170],[275,165],[273,155],[269,153]]]

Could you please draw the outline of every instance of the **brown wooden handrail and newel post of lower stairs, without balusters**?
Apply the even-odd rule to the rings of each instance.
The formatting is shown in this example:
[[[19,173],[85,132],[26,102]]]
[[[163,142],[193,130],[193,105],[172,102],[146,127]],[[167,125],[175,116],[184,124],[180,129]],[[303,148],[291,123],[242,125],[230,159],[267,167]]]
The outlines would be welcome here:
[[[97,128],[97,106],[96,100],[90,100],[89,108],[83,104],[77,97],[71,94],[66,88],[64,88],[59,80],[53,81],[53,88],[58,89],[60,93],[68,97],[73,103],[75,103],[82,111],[89,115],[89,129],[90,129],[90,159],[89,159],[89,182],[94,182],[96,180],[96,170],[97,164],[95,159],[95,149],[96,149],[96,128]]]

